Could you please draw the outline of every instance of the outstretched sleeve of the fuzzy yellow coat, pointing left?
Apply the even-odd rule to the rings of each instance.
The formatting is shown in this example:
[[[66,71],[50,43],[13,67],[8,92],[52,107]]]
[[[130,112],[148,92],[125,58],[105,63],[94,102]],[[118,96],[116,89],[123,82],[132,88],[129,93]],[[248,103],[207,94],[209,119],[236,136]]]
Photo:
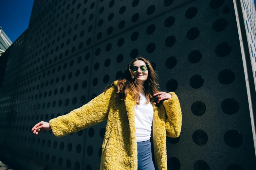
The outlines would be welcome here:
[[[49,125],[53,134],[56,137],[65,136],[107,120],[110,99],[115,90],[116,87],[112,86],[82,107],[51,119]]]

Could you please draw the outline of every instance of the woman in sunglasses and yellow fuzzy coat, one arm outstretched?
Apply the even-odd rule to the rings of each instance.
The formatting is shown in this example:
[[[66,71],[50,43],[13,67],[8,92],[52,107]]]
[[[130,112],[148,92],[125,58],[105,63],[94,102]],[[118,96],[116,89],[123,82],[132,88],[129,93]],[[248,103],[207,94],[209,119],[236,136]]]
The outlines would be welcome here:
[[[107,120],[100,170],[167,170],[166,136],[181,132],[181,108],[174,92],[159,92],[156,73],[142,57],[131,61],[123,79],[69,114],[41,121],[31,131],[68,135]],[[154,144],[154,167],[150,138]]]

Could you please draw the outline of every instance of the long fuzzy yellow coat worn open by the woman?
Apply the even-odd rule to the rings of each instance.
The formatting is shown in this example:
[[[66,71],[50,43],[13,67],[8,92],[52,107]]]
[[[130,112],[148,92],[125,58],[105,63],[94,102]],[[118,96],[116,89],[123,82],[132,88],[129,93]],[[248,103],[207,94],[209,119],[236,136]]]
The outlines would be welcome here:
[[[69,114],[51,119],[55,136],[61,137],[107,120],[102,144],[100,170],[137,170],[135,127],[136,101],[130,94],[124,100],[116,97],[117,81],[105,93]],[[167,170],[166,136],[178,137],[181,132],[181,108],[177,95],[162,100],[154,107],[151,137],[158,170]]]

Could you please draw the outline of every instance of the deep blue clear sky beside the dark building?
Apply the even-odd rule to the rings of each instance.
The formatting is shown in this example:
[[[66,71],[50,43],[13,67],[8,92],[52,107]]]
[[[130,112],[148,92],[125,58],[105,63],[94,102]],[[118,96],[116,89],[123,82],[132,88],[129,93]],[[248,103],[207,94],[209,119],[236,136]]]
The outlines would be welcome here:
[[[12,42],[28,28],[33,2],[34,0],[1,0],[0,26]]]

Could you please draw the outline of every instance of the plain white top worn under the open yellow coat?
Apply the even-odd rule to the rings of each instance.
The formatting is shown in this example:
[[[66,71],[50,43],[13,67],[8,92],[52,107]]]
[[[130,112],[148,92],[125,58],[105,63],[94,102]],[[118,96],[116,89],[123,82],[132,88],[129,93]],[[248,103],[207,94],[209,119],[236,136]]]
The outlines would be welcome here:
[[[151,103],[145,104],[146,96],[140,92],[140,105],[135,107],[136,141],[143,142],[151,137],[151,126],[154,108]]]

